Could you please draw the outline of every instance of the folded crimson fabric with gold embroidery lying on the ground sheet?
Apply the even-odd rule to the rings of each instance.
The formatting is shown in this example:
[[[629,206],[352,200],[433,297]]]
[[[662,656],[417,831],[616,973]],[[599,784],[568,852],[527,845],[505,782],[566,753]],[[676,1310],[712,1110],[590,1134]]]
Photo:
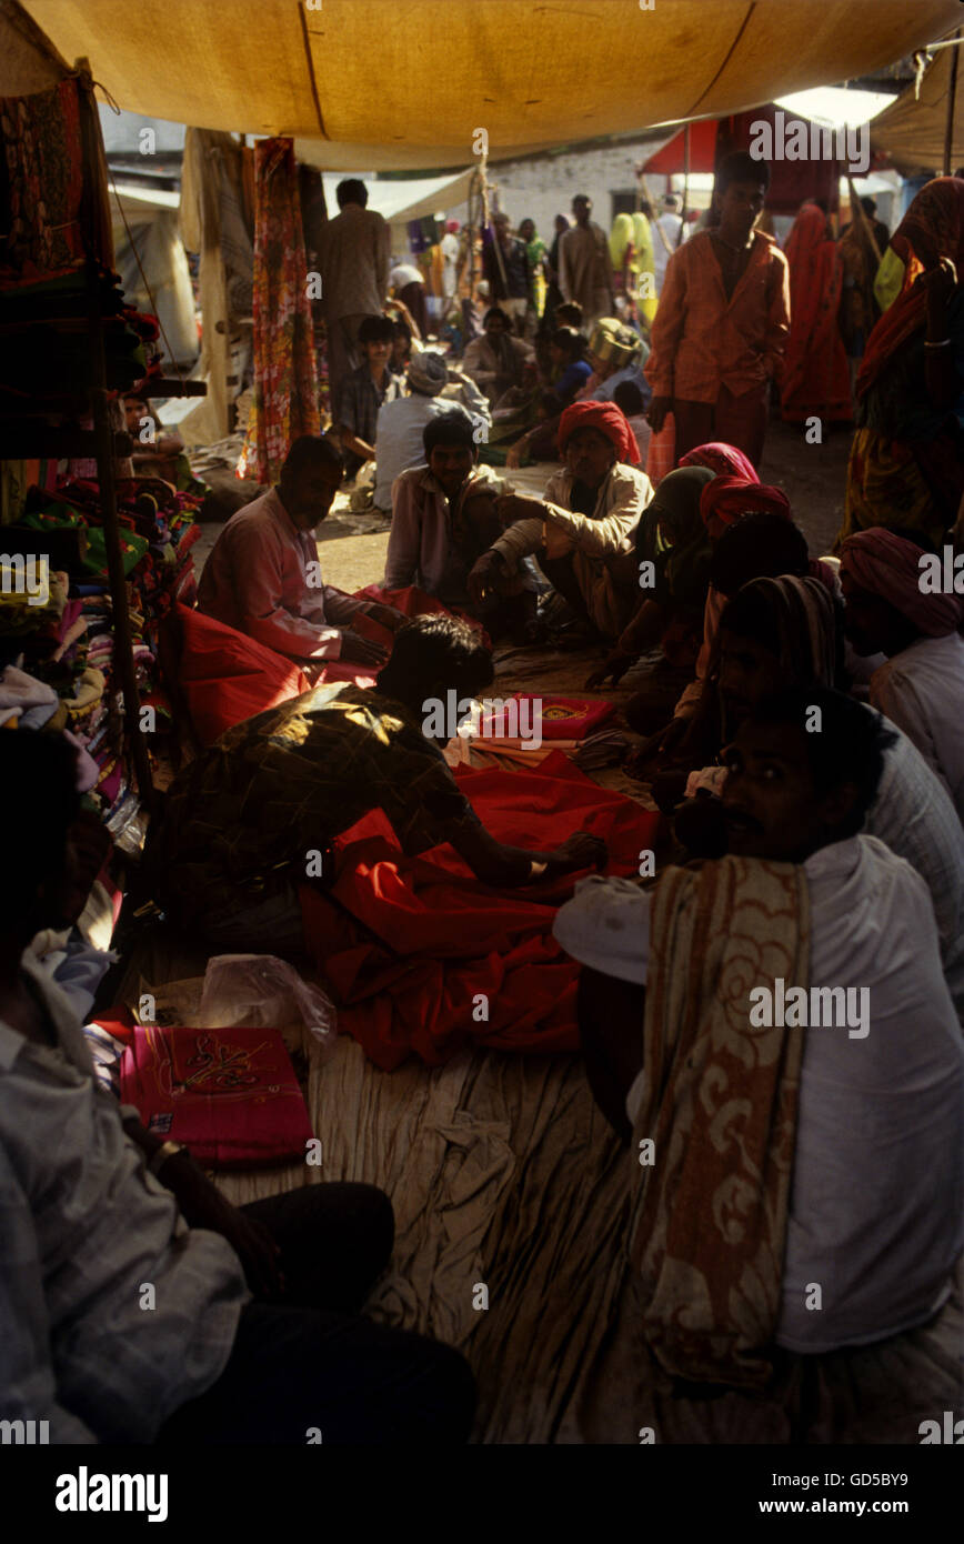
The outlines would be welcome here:
[[[137,1025],[120,1098],[148,1130],[221,1169],[303,1158],[314,1135],[278,1030]]]

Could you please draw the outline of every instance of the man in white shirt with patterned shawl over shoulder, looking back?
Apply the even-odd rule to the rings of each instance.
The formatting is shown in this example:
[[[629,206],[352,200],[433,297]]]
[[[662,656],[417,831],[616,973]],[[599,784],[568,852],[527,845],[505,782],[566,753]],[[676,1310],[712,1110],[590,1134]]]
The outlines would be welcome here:
[[[881,1340],[950,1291],[964,1045],[927,886],[859,834],[888,736],[823,687],[771,698],[726,752],[728,855],[556,917],[596,1102],[640,1149],[647,1340],[695,1382],[762,1387],[771,1342]]]

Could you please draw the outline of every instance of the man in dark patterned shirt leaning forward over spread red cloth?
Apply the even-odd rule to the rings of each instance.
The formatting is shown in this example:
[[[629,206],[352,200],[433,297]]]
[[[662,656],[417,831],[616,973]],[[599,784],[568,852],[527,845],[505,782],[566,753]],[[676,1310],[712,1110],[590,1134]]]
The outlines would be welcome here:
[[[448,740],[457,724],[445,709],[491,679],[476,630],[419,616],[395,636],[377,690],[320,686],[229,729],[175,778],[148,845],[165,913],[229,948],[300,953],[298,885],[331,880],[326,849],[372,809],[405,852],[450,841],[485,885],[602,868],[606,843],[586,832],[555,852],[504,846],[459,792],[426,726],[448,720]]]

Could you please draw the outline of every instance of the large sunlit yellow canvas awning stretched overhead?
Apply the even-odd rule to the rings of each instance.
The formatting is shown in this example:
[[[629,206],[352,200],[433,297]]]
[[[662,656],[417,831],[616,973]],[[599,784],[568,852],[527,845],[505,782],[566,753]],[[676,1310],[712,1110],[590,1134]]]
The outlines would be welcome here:
[[[465,165],[721,117],[942,37],[958,0],[28,0],[151,117],[324,142],[324,165]]]

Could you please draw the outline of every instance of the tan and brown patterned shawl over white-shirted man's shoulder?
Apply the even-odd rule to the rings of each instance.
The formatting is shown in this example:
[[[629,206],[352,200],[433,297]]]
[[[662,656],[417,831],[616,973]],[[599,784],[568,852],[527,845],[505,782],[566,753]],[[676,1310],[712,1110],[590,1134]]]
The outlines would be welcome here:
[[[762,858],[667,868],[650,913],[646,1087],[629,1252],[646,1339],[691,1382],[762,1388],[780,1285],[803,1028],[752,1028],[749,991],[808,987],[803,869]]]

